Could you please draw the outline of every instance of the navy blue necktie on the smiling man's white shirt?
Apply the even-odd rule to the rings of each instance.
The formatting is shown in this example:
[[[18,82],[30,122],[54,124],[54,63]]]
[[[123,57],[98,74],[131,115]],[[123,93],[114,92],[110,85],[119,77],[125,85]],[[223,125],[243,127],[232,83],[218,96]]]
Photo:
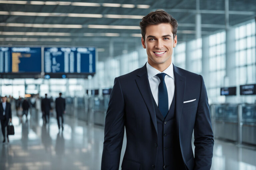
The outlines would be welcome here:
[[[157,77],[159,77],[160,79],[160,84],[158,85],[158,108],[164,118],[169,111],[168,92],[167,92],[166,84],[164,81],[165,76],[166,76],[165,73],[157,74]]]

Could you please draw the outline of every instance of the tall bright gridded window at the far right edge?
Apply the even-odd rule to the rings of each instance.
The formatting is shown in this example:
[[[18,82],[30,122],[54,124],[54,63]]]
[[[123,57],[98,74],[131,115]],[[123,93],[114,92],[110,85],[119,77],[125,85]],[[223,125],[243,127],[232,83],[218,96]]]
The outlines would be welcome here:
[[[255,83],[255,21],[235,29],[236,83]]]

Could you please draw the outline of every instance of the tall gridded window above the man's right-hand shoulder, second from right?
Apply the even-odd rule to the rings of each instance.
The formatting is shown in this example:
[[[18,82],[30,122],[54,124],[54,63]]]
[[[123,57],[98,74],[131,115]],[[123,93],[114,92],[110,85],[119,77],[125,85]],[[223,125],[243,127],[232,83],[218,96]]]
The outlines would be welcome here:
[[[209,83],[208,96],[212,101],[223,103],[225,97],[220,96],[226,74],[226,33],[221,32],[209,36]]]

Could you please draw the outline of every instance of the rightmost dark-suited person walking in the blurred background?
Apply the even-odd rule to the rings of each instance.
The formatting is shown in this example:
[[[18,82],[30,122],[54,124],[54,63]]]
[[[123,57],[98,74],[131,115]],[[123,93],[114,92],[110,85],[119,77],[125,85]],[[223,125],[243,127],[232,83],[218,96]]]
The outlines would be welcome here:
[[[56,109],[56,114],[57,114],[57,122],[58,122],[59,130],[60,130],[60,118],[61,118],[61,127],[63,130],[64,129],[63,114],[65,113],[66,102],[65,102],[65,99],[61,97],[62,93],[59,93],[59,95],[60,96],[58,98],[56,98],[56,100],[55,100],[55,109]]]

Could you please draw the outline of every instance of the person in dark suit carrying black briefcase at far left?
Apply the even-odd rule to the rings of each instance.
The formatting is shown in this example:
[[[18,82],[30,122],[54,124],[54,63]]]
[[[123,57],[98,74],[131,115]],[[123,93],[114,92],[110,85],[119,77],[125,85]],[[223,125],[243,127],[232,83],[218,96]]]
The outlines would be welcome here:
[[[2,103],[0,103],[0,122],[2,128],[2,134],[4,136],[3,142],[5,142],[5,127],[8,125],[9,121],[12,122],[12,110],[11,104],[6,102],[7,96],[2,97]],[[9,142],[8,134],[7,141]]]

